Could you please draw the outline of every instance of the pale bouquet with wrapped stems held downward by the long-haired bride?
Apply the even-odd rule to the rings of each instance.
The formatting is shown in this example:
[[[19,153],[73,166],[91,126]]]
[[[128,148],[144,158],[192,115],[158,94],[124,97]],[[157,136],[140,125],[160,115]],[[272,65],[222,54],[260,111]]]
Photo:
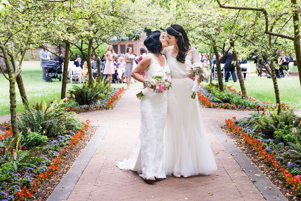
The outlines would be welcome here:
[[[197,79],[199,77],[201,77],[206,82],[208,82],[208,79],[211,75],[211,70],[210,70],[210,67],[208,65],[205,65],[204,63],[194,63],[193,65],[188,66],[186,68],[186,70],[188,70],[190,73],[195,74],[193,88],[192,88],[191,94],[189,96],[189,97],[195,99],[195,97],[197,95],[197,88],[199,85]]]

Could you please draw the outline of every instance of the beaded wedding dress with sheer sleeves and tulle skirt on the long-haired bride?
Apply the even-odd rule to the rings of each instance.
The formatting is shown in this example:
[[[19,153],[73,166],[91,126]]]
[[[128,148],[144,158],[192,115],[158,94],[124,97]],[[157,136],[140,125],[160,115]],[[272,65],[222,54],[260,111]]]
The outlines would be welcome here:
[[[164,166],[166,175],[208,175],[217,166],[201,119],[197,98],[189,97],[193,80],[187,66],[199,62],[198,53],[191,48],[180,63],[165,48],[163,53],[171,70],[172,89],[168,91],[165,127]]]

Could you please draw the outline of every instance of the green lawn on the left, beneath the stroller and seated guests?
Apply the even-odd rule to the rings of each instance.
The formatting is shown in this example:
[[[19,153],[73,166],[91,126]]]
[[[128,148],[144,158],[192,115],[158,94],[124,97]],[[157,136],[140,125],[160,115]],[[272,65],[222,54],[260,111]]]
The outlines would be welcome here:
[[[61,98],[61,86],[62,82],[54,80],[52,83],[42,81],[42,69],[40,67],[40,61],[23,61],[22,64],[22,78],[25,85],[25,90],[30,104],[35,101],[50,101],[53,98]],[[79,85],[79,84],[77,84]],[[9,81],[5,77],[0,75],[0,116],[10,113],[10,98],[9,98]],[[114,87],[126,87],[126,84],[114,84]],[[132,85],[142,86],[139,83]],[[67,84],[67,91],[71,89],[72,85]],[[17,94],[17,111],[23,111],[23,104],[16,85]]]

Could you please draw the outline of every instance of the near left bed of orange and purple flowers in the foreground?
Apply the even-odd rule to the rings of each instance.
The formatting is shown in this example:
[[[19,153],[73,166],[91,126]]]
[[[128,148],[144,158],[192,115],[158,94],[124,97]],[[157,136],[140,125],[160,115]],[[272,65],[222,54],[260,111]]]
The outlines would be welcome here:
[[[18,172],[10,172],[10,175],[6,178],[6,182],[0,184],[0,200],[12,201],[30,199],[33,193],[37,191],[37,186],[43,183],[47,178],[53,176],[54,172],[59,169],[59,165],[62,163],[68,150],[83,139],[89,123],[90,121],[86,120],[86,122],[82,122],[82,127],[76,132],[70,132],[70,134],[65,136],[58,136],[58,139],[48,142],[42,149],[42,153],[45,153],[45,155],[40,155],[41,162],[38,163],[37,168],[27,168],[26,170],[18,169]],[[10,128],[2,135],[5,137],[0,136],[2,137],[0,145],[2,142],[9,140],[12,137],[11,135],[12,131]],[[22,150],[22,148],[18,149]],[[12,148],[8,151],[14,153],[14,160],[19,157],[17,155],[18,151],[14,151]],[[6,152],[5,149],[4,152]],[[37,155],[37,153],[35,153],[35,155]],[[47,157],[52,157],[53,159],[49,160]]]

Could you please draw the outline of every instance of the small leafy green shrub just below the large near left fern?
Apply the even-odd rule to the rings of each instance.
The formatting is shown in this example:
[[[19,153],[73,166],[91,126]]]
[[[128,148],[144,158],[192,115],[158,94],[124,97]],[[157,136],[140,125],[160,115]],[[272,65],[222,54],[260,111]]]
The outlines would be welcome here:
[[[48,137],[41,135],[39,132],[28,132],[26,137],[21,138],[21,144],[26,149],[43,146],[48,142]]]

